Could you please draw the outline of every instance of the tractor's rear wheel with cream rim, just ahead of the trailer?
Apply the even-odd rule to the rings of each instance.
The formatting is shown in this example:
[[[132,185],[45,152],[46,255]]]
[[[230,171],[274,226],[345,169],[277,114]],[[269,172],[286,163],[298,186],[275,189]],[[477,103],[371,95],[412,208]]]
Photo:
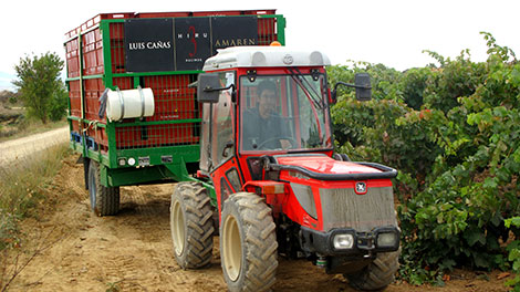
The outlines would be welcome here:
[[[177,184],[169,213],[174,254],[180,268],[197,269],[209,264],[215,228],[208,190],[200,182]]]

